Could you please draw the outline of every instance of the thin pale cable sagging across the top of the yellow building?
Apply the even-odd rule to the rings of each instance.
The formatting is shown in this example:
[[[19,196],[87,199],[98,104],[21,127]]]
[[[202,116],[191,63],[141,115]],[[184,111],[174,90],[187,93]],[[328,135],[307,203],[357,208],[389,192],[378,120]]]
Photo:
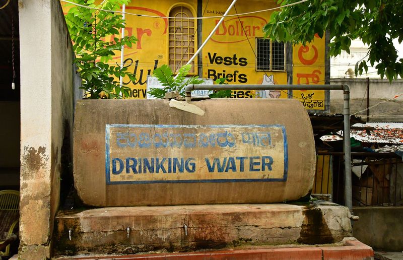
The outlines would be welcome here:
[[[126,15],[134,15],[134,16],[139,16],[139,17],[149,17],[149,18],[162,18],[162,19],[174,19],[175,17],[163,17],[163,16],[153,16],[153,15],[141,15],[141,14],[132,14],[132,13],[127,13],[127,12],[122,12],[122,11],[112,11],[112,10],[103,10],[100,8],[96,8],[96,7],[89,7],[89,6],[84,6],[84,5],[80,5],[71,1],[67,1],[67,0],[60,0],[61,2],[64,3],[69,3],[75,6],[79,6],[79,7],[83,7],[83,8],[88,8],[88,9],[95,9],[95,10],[99,10],[99,11],[105,11],[105,12],[110,12],[110,13],[119,13],[119,14],[126,14]],[[183,19],[212,19],[212,18],[222,18],[222,17],[235,17],[238,15],[250,15],[250,14],[256,14],[256,13],[262,13],[262,12],[267,12],[267,11],[273,11],[273,10],[277,10],[277,9],[281,9],[281,8],[285,8],[285,7],[290,7],[290,6],[295,6],[298,4],[302,4],[304,2],[307,2],[308,0],[301,0],[299,2],[296,3],[292,3],[292,4],[288,4],[288,5],[284,5],[284,6],[280,6],[280,7],[275,7],[275,8],[270,8],[270,9],[264,9],[264,10],[257,10],[257,11],[253,11],[253,12],[247,12],[247,13],[242,13],[242,14],[235,14],[235,15],[226,15],[226,16],[207,16],[207,17],[187,17],[187,18],[183,18]]]

